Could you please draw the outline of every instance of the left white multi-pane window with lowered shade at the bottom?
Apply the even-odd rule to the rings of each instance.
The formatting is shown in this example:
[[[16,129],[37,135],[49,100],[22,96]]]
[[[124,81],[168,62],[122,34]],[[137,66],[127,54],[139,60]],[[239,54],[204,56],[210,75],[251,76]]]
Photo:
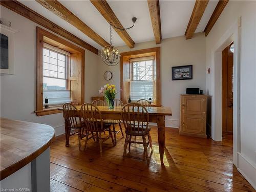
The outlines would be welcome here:
[[[51,45],[43,49],[43,103],[48,98],[49,105],[70,102],[68,90],[68,56],[70,54]]]

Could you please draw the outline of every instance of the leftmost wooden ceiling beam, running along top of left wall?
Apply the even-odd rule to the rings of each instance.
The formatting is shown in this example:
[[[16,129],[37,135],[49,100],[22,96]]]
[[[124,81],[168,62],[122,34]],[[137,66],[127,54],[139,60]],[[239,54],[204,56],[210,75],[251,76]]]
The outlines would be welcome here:
[[[32,20],[32,22],[35,22],[35,23],[39,24],[40,26],[53,31],[53,32],[57,33],[58,35],[61,35],[62,37],[65,37],[65,38],[71,40],[72,42],[75,42],[77,45],[79,45],[89,51],[92,51],[95,54],[98,54],[98,49],[89,45],[87,42],[81,40],[80,38],[76,37],[72,33],[61,28],[60,26],[54,24],[47,18],[36,13],[32,9],[26,7],[25,5],[23,5],[17,1],[0,1],[0,5],[14,11],[15,13],[18,13],[18,14]]]

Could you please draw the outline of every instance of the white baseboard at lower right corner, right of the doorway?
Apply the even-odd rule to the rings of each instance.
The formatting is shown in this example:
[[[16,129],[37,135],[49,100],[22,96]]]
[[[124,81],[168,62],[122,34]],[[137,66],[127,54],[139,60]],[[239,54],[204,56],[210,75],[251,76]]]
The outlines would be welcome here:
[[[241,153],[238,153],[238,170],[256,190],[256,166]]]

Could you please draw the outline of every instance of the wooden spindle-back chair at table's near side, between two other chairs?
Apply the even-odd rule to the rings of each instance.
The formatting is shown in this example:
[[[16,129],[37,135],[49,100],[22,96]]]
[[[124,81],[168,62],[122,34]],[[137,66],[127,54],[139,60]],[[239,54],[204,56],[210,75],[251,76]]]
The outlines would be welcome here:
[[[81,116],[84,121],[84,127],[86,131],[86,141],[84,143],[84,151],[86,150],[86,144],[88,141],[88,135],[89,132],[96,132],[96,134],[99,136],[99,151],[100,154],[102,153],[102,142],[108,140],[110,137],[112,139],[112,143],[115,146],[115,142],[111,133],[110,124],[103,123],[103,119],[101,117],[101,113],[97,106],[91,104],[91,103],[84,103],[81,106]],[[101,137],[101,133],[104,131],[109,131],[109,136],[106,138]]]

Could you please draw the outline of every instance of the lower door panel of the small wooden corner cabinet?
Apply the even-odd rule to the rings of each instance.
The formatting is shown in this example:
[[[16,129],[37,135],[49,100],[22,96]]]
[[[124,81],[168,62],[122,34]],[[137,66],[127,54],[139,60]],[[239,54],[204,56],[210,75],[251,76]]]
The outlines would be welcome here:
[[[205,132],[205,117],[201,115],[187,115],[183,116],[183,131],[189,133]]]

